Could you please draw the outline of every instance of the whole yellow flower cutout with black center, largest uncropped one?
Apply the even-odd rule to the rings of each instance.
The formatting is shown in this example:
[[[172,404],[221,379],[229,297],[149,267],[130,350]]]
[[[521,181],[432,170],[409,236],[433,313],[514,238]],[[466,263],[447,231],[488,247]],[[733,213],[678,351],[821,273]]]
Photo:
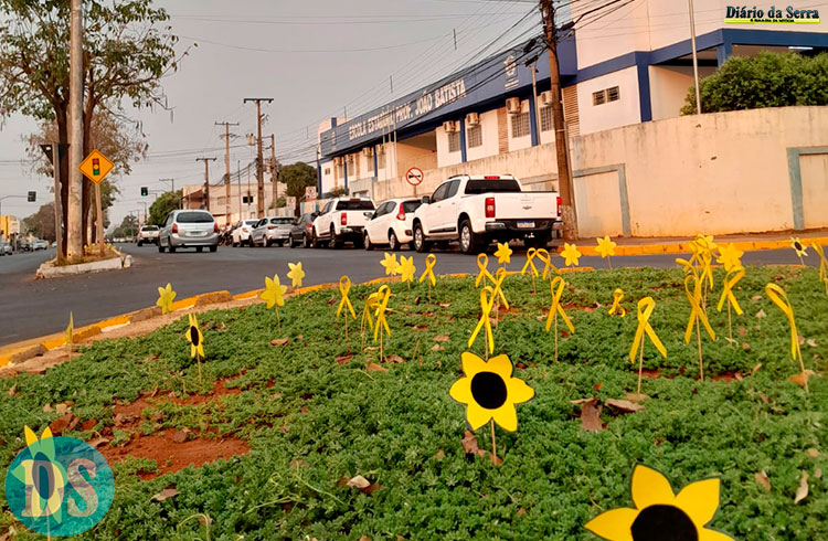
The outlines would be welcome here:
[[[534,390],[523,380],[512,378],[509,357],[497,356],[484,361],[466,351],[460,359],[465,376],[452,385],[448,394],[466,404],[469,427],[476,431],[493,418],[501,428],[517,431],[518,410],[514,406],[532,400]]]

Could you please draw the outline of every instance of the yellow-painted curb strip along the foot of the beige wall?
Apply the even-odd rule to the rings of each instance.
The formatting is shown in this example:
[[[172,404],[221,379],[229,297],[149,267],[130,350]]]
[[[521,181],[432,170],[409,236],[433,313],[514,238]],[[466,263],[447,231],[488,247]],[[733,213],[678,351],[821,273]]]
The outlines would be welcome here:
[[[815,230],[807,232],[785,232],[785,233],[749,233],[740,235],[721,235],[714,236],[713,241],[719,245],[733,245],[743,251],[752,252],[757,250],[784,250],[790,247],[790,238],[798,237],[806,247],[813,243],[824,246],[828,245],[828,230]],[[693,238],[688,237],[633,237],[633,238],[613,238],[617,244],[615,255],[656,255],[656,254],[689,254],[691,253],[690,243]],[[581,238],[575,243],[577,250],[583,255],[599,255],[595,248],[597,243],[594,238]],[[558,246],[558,251],[563,250],[563,241]]]

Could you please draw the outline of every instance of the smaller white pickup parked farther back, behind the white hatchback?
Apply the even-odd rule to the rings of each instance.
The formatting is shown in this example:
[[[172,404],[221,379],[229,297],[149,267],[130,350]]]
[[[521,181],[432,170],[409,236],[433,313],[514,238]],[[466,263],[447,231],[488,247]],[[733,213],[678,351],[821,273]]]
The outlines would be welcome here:
[[[328,201],[314,220],[311,238],[314,247],[325,243],[339,248],[347,242],[362,242],[362,230],[375,206],[370,199],[336,198]]]

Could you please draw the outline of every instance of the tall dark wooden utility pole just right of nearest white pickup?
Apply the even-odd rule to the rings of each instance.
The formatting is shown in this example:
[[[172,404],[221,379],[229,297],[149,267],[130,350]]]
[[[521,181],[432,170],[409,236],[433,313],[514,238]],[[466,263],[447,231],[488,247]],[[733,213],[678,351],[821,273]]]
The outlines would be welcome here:
[[[577,238],[577,215],[570,177],[570,151],[564,129],[563,104],[561,103],[561,71],[558,64],[558,29],[555,28],[555,9],[552,0],[540,0],[543,14],[543,34],[549,52],[549,83],[552,91],[552,123],[555,129],[555,150],[558,155],[558,191],[561,193],[561,220],[563,237],[567,241]]]

